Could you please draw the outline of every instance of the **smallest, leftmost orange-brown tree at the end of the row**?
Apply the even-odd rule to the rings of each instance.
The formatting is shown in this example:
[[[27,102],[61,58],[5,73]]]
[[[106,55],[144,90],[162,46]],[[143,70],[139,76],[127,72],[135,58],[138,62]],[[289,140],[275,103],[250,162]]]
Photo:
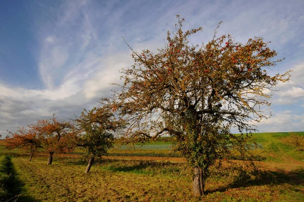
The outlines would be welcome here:
[[[9,149],[22,148],[29,151],[31,154],[29,161],[31,161],[34,153],[42,148],[42,140],[30,125],[28,127],[28,129],[18,128],[15,133],[9,132],[6,141]]]

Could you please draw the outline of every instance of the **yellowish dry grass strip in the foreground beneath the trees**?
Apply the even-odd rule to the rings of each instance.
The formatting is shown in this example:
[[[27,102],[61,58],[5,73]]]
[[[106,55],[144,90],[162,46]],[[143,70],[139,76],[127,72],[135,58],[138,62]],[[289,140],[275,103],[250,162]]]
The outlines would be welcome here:
[[[85,164],[60,158],[13,158],[30,196],[41,201],[301,201],[304,169],[262,172],[259,180],[213,175],[206,197],[192,196],[182,163],[103,160],[84,174]]]

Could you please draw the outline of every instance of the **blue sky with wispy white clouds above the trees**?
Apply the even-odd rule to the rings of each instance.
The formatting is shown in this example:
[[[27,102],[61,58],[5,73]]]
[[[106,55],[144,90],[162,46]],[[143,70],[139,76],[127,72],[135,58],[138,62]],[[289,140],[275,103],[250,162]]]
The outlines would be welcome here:
[[[219,35],[246,43],[271,41],[286,59],[270,74],[293,70],[276,88],[273,116],[263,131],[304,130],[303,1],[5,1],[0,0],[0,134],[56,114],[72,118],[109,96],[119,70],[132,65],[126,41],[138,51],[164,47],[176,15],[184,29],[203,27],[191,38]]]

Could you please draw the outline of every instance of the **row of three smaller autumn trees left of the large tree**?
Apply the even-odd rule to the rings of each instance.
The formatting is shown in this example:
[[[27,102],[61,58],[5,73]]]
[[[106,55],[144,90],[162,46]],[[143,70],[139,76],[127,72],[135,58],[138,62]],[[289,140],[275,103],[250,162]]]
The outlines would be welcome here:
[[[105,155],[113,146],[114,135],[125,126],[123,120],[114,117],[107,106],[87,111],[73,120],[60,120],[53,115],[46,120],[38,120],[27,128],[18,128],[6,137],[9,149],[22,148],[34,153],[49,153],[48,165],[52,164],[54,153],[64,154],[77,146],[85,148],[84,156],[88,159],[85,173],[88,173],[96,157]]]

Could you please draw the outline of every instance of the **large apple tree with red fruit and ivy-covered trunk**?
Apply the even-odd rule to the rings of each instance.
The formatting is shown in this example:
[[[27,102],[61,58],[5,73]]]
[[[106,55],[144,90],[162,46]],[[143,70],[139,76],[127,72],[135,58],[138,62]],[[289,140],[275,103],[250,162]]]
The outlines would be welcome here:
[[[270,105],[265,90],[288,81],[290,71],[269,75],[281,60],[272,60],[277,53],[262,38],[241,44],[230,35],[218,38],[215,31],[207,44],[194,46],[188,37],[202,28],[183,31],[183,21],[178,16],[176,32],[168,31],[165,48],[157,53],[130,48],[135,63],[122,71],[125,82],[113,95],[112,108],[129,122],[128,142],[175,137],[193,168],[194,194],[202,195],[216,160],[233,148],[246,153],[247,132],[267,118],[260,110]],[[232,127],[241,135],[231,133]]]

